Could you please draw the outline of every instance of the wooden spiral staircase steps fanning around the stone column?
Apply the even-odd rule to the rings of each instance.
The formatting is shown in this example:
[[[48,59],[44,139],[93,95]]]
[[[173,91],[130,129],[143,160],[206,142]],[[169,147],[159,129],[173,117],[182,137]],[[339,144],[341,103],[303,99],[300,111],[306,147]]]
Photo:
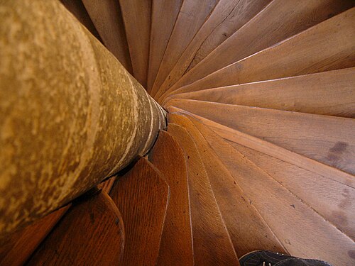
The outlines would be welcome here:
[[[0,265],[355,264],[355,2],[61,0],[169,113]]]

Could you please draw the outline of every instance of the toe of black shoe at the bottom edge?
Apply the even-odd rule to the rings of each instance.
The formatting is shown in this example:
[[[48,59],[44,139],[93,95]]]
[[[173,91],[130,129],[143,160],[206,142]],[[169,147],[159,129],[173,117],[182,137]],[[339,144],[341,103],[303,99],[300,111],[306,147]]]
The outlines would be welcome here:
[[[268,250],[258,250],[239,258],[241,266],[332,266],[322,260],[300,259]]]

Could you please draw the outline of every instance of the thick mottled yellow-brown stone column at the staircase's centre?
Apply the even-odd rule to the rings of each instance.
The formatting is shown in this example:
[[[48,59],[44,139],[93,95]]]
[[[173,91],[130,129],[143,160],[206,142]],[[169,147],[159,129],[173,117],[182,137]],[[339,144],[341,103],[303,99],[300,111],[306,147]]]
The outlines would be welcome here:
[[[145,154],[165,111],[58,1],[0,0],[0,235]]]

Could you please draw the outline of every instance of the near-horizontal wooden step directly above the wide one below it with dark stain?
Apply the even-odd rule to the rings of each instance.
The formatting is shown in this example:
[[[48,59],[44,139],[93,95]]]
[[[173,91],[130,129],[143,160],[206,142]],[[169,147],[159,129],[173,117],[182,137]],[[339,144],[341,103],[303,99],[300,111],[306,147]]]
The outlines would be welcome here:
[[[354,88],[355,68],[352,67],[175,94],[172,98],[355,118]]]

